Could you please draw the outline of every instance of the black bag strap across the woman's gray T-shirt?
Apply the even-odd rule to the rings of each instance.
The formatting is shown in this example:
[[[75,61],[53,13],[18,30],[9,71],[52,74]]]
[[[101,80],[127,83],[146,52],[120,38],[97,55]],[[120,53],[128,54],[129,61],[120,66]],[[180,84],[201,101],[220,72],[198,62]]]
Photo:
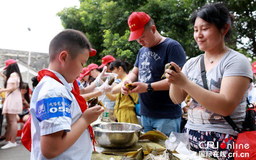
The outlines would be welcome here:
[[[201,77],[204,84],[204,89],[208,89],[207,81],[206,81],[206,71],[204,66],[204,54],[201,56],[200,60],[200,67],[201,67]],[[236,123],[230,118],[230,116],[223,116],[223,118],[228,122],[228,124],[238,133],[241,133],[241,130],[237,127]]]

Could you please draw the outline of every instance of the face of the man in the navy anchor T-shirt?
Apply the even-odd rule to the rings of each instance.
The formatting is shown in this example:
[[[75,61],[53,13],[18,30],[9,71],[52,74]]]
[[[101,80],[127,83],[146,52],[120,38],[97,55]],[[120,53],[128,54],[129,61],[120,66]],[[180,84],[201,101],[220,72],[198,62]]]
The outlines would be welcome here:
[[[153,47],[154,46],[154,40],[155,40],[155,34],[151,30],[151,28],[144,28],[144,31],[140,38],[136,39],[137,42],[142,45],[143,47]]]

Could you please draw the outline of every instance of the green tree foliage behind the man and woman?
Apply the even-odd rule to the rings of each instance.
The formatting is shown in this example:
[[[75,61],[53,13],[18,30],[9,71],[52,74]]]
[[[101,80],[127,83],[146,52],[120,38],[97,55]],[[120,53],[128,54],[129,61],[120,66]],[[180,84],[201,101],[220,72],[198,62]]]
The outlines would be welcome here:
[[[147,13],[156,23],[157,30],[165,37],[177,40],[188,58],[202,54],[193,37],[190,16],[206,3],[216,0],[81,0],[80,7],[64,8],[57,15],[65,29],[83,31],[97,54],[89,63],[100,64],[105,55],[116,59],[136,60],[140,45],[128,42],[130,30],[127,20],[133,11]],[[228,44],[252,59],[256,57],[256,0],[228,0],[234,13],[233,36]],[[244,40],[248,40],[245,42]],[[244,43],[245,42],[245,43]]]

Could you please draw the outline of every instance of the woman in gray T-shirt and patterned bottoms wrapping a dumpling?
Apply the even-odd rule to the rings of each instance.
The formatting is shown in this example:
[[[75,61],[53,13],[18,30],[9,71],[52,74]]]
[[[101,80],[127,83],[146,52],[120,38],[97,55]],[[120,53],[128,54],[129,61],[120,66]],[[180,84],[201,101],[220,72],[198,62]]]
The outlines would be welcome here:
[[[192,16],[194,38],[203,55],[191,58],[180,71],[166,70],[170,98],[176,104],[189,94],[193,101],[188,109],[188,132],[191,149],[201,156],[233,159],[237,132],[225,121],[230,116],[239,128],[245,118],[246,97],[252,82],[247,57],[225,45],[230,37],[233,15],[223,3],[204,5]],[[204,56],[204,57],[203,57]],[[200,60],[204,58],[204,89]],[[206,84],[205,83],[205,84]]]

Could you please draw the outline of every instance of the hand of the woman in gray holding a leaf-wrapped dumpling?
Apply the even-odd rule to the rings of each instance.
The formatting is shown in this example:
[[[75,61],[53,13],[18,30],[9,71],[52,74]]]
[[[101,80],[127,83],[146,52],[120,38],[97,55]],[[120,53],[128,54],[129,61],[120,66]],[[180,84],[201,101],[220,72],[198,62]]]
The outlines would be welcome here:
[[[171,65],[175,68],[176,72],[166,69],[165,77],[167,78],[168,83],[172,83],[176,87],[182,88],[184,84],[187,84],[188,78],[184,73],[180,72],[180,67],[176,63],[171,62]]]

